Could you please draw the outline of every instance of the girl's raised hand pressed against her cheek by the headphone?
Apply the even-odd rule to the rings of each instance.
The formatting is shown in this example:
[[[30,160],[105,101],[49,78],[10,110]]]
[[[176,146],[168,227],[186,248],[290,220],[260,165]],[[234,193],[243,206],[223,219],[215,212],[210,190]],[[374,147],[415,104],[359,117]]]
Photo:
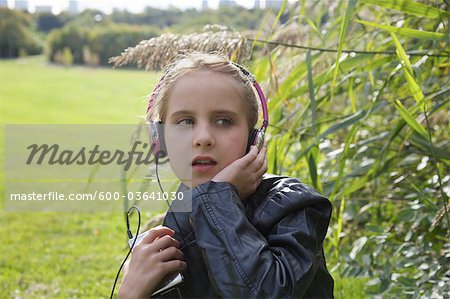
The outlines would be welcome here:
[[[241,199],[247,198],[255,192],[267,171],[266,152],[263,147],[258,153],[258,148],[252,145],[248,154],[219,171],[212,181],[231,183],[238,189]]]

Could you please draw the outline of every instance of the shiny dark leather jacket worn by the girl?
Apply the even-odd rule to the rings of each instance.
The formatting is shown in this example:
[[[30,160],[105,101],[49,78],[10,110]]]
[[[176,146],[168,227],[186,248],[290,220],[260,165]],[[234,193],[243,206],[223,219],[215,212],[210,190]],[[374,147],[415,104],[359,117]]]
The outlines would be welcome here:
[[[313,188],[266,175],[245,201],[225,182],[191,192],[192,212],[164,219],[187,262],[183,284],[164,297],[333,297],[322,249],[332,208]]]

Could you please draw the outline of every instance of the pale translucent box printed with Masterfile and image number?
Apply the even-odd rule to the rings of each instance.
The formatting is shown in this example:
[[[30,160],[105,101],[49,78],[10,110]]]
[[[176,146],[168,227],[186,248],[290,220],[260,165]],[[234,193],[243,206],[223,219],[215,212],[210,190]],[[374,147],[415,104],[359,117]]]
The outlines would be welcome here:
[[[6,125],[7,211],[118,211],[138,204],[188,212],[192,135],[187,126],[155,144],[146,125]],[[164,136],[163,136],[164,137]]]

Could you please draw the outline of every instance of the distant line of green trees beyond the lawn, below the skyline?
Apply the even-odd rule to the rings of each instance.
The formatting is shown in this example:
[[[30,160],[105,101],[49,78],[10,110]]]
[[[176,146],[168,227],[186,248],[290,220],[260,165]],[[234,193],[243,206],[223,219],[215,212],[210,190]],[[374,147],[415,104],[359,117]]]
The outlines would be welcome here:
[[[263,14],[260,9],[239,6],[207,11],[148,7],[136,14],[126,10],[105,14],[90,9],[74,16],[0,8],[0,58],[45,52],[50,62],[107,65],[109,57],[165,32],[201,31],[207,24],[257,30]],[[287,19],[282,16],[281,22]]]

